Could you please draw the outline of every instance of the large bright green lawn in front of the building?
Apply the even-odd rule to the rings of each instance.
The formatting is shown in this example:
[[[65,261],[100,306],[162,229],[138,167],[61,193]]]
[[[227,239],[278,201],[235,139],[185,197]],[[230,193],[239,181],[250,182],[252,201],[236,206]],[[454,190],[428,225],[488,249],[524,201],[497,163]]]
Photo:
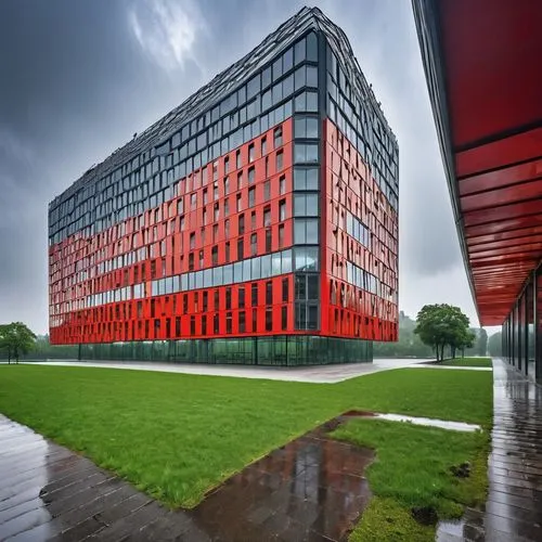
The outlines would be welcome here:
[[[173,506],[195,505],[246,464],[346,410],[489,426],[491,390],[491,373],[467,371],[404,369],[326,385],[0,366],[0,412]]]

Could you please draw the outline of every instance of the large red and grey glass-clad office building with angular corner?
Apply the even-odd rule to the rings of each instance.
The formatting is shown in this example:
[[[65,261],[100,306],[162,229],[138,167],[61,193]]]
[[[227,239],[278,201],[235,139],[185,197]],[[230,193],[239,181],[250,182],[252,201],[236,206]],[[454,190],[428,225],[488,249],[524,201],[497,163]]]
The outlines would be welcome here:
[[[82,359],[366,362],[398,332],[398,145],[305,8],[49,209],[50,336]]]

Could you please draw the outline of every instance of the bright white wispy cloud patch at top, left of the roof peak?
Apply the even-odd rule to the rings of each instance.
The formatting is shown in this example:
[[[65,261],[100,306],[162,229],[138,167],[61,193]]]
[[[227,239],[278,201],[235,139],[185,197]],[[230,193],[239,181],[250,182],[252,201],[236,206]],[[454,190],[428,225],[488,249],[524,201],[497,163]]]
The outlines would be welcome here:
[[[128,12],[133,36],[141,48],[166,70],[197,65],[194,46],[203,28],[195,5],[185,0],[143,0]]]

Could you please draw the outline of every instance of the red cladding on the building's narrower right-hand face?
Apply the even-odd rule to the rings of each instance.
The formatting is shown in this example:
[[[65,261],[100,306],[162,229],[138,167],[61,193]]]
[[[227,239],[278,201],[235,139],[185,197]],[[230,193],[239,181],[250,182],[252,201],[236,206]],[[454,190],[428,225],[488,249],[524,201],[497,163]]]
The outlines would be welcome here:
[[[398,215],[348,139],[330,120],[324,122],[323,132],[322,332],[397,340]],[[369,228],[370,246],[347,233],[347,211]],[[349,284],[347,261],[376,276],[383,297]]]

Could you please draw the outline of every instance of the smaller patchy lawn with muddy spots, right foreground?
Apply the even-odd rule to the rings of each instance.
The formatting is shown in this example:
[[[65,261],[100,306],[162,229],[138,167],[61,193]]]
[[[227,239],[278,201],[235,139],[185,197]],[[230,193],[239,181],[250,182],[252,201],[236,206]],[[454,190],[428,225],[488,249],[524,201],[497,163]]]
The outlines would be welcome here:
[[[413,507],[438,518],[461,517],[463,505],[485,502],[489,433],[459,433],[379,420],[353,420],[333,436],[376,450],[366,475],[376,498],[353,531],[351,542],[433,541],[435,528],[422,526]],[[467,478],[450,467],[470,463]]]

